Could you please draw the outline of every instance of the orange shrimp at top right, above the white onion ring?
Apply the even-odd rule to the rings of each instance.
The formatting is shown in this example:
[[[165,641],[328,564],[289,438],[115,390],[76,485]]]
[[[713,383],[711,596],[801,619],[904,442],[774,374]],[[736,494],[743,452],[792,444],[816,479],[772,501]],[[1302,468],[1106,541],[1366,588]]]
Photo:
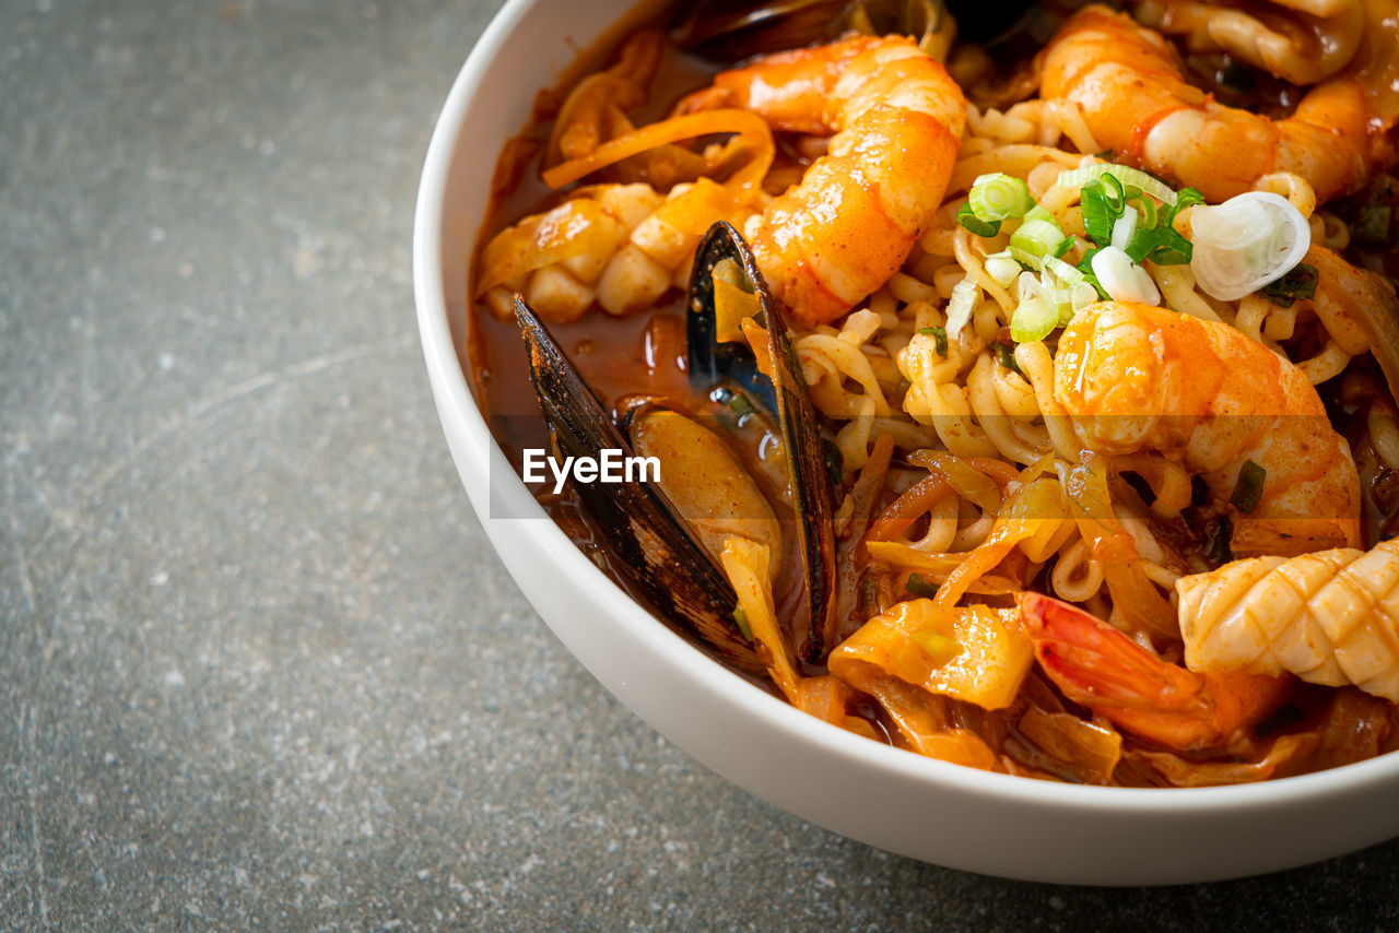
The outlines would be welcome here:
[[[1212,203],[1272,172],[1301,175],[1326,201],[1357,189],[1388,155],[1381,130],[1392,126],[1392,108],[1371,84],[1379,87],[1347,69],[1315,85],[1291,116],[1272,120],[1214,102],[1186,84],[1179,56],[1158,34],[1091,6],[1045,48],[1039,90],[1081,106],[1104,145]]]

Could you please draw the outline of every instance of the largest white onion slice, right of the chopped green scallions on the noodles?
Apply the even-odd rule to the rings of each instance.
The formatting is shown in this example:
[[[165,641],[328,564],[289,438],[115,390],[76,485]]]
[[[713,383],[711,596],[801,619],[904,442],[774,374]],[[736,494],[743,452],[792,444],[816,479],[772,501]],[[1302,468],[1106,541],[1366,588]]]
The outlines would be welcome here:
[[[1281,194],[1245,192],[1191,214],[1191,271],[1212,298],[1237,301],[1290,273],[1311,246],[1311,227]]]

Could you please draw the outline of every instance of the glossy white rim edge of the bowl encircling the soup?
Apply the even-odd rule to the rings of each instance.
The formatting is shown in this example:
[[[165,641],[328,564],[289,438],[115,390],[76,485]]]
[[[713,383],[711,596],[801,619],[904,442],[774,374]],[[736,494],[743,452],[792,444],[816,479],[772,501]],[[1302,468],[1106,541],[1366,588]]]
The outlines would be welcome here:
[[[460,462],[457,469],[483,478],[501,466],[509,470],[511,477],[498,481],[494,494],[505,498],[512,516],[523,518],[508,520],[520,523],[520,527],[527,526],[540,548],[561,564],[560,569],[568,578],[592,590],[599,600],[606,600],[627,638],[635,639],[639,649],[653,652],[673,667],[684,670],[700,681],[705,692],[727,694],[729,702],[741,706],[748,716],[782,733],[788,740],[820,746],[828,754],[851,760],[860,768],[884,772],[890,778],[916,781],[930,788],[949,785],[971,796],[996,797],[1010,803],[1052,804],[1084,813],[1170,816],[1184,811],[1291,807],[1322,797],[1346,796],[1377,783],[1399,785],[1399,751],[1314,774],[1212,788],[1105,788],[965,768],[872,743],[869,739],[803,713],[706,656],[627,596],[574,546],[509,467],[504,452],[487,428],[466,372],[457,359],[448,318],[441,256],[446,217],[445,190],[452,158],[460,143],[463,117],[474,88],[480,85],[499,45],[529,14],[534,3],[536,0],[508,0],[501,7],[473,45],[438,113],[422,165],[413,222],[413,294],[418,334],[443,431],[450,435],[455,425],[470,441],[466,445],[453,445],[455,459],[463,452],[470,456],[467,469],[463,470]],[[498,150],[492,150],[492,154],[498,154]],[[470,239],[474,241],[474,234]],[[477,515],[490,537],[494,519],[481,516],[480,509]]]

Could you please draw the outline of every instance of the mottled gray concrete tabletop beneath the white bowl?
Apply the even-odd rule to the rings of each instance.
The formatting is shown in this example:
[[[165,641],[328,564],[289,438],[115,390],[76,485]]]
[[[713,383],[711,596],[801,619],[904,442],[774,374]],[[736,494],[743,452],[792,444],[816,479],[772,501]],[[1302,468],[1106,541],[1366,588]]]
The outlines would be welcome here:
[[[590,680],[414,330],[418,168],[494,7],[0,11],[4,923],[1399,927],[1399,843],[1146,891],[888,856]]]

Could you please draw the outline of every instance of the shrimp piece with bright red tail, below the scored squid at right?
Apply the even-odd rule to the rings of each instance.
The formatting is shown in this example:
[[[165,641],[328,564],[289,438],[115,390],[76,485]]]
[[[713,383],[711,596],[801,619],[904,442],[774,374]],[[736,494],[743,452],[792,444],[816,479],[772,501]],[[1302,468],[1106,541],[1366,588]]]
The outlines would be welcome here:
[[[1178,751],[1223,750],[1287,697],[1290,677],[1199,674],[1107,622],[1039,593],[1020,594],[1035,657],[1063,695],[1122,729]]]

